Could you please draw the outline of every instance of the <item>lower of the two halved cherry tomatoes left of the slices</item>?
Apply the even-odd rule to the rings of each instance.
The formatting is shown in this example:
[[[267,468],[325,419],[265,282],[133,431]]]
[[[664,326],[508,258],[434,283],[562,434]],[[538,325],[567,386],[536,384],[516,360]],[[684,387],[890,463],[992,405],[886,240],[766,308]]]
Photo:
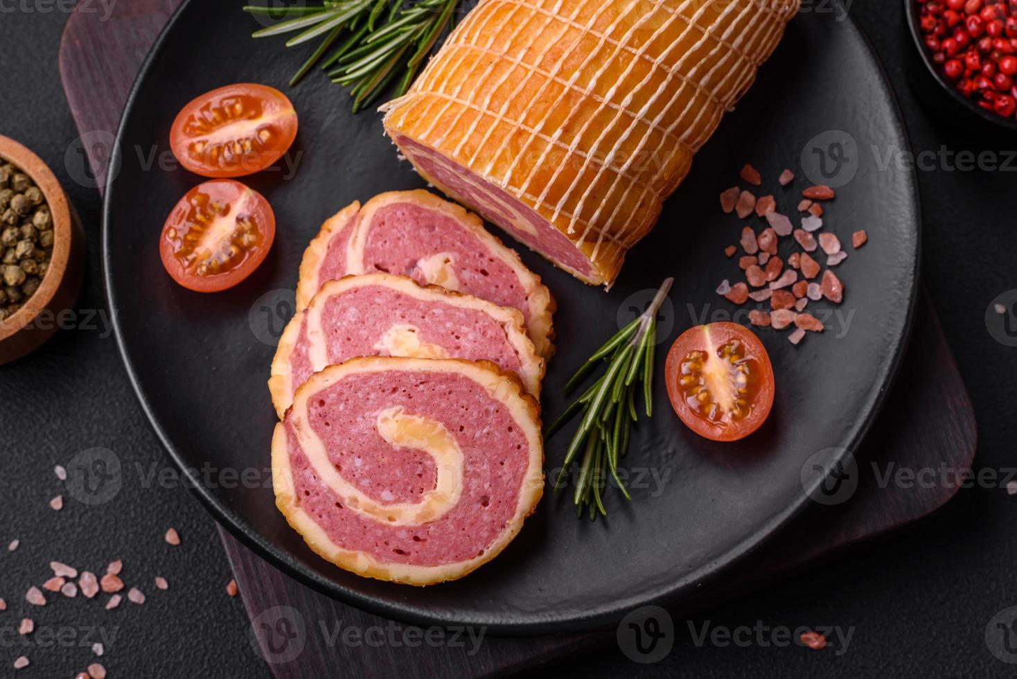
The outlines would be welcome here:
[[[215,179],[187,192],[166,219],[163,266],[188,290],[216,293],[258,267],[276,239],[276,215],[257,191]]]

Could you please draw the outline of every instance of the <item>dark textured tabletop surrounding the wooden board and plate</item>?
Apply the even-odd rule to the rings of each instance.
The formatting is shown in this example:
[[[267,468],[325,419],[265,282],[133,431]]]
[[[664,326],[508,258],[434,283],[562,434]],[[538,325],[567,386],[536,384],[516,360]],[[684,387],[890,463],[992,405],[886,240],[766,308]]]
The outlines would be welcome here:
[[[919,103],[910,81],[922,74],[914,70],[900,2],[854,0],[850,13],[889,71],[915,151],[938,151],[945,144],[1002,158],[1017,150],[1013,137]],[[35,149],[81,214],[88,249],[78,303],[84,312],[103,308],[100,201],[73,181],[64,160],[77,136],[56,66],[65,20],[57,3],[0,3],[0,133]],[[924,283],[977,412],[976,468],[1005,471],[1017,467],[1017,349],[992,338],[984,314],[997,295],[1017,288],[1017,211],[1010,202],[1017,197],[1017,163],[995,172],[940,167],[918,172],[918,182]],[[33,665],[18,676],[72,677],[94,660],[87,646],[98,638],[88,629],[95,625],[116,634],[100,661],[111,677],[265,676],[248,644],[240,601],[224,593],[230,573],[212,520],[184,489],[144,482],[153,466],[168,469],[169,462],[134,400],[105,316],[100,318],[96,329],[62,331],[31,357],[0,367],[0,597],[8,604],[0,613],[0,676],[12,674],[10,663],[24,654]],[[122,490],[101,507],[67,497],[63,511],[52,511],[47,503],[61,492],[53,466],[93,446],[115,450],[126,466]],[[994,614],[1017,605],[1011,575],[1017,536],[1009,523],[1015,511],[1017,497],[1003,489],[964,490],[919,524],[695,620],[697,626],[709,619],[727,627],[758,621],[792,629],[853,627],[841,656],[759,643],[696,646],[685,621],[676,617],[674,650],[656,665],[635,665],[605,644],[547,669],[566,676],[1013,676],[1012,666],[989,653],[983,635]],[[163,542],[170,526],[182,536],[178,548]],[[14,538],[21,546],[7,553]],[[24,590],[45,579],[51,559],[102,571],[114,558],[124,559],[128,585],[147,595],[143,606],[125,602],[107,613],[97,601],[51,596],[50,605],[29,612],[36,638],[22,645],[11,633],[28,608]],[[168,592],[156,590],[156,575],[170,581]],[[72,628],[76,640],[43,647],[43,627]]]

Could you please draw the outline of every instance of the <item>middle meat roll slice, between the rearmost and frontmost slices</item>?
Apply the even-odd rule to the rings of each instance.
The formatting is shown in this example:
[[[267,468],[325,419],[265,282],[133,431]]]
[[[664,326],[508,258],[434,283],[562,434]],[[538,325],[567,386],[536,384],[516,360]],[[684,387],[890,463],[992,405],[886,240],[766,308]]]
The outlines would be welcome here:
[[[324,284],[283,332],[268,380],[279,417],[308,377],[357,356],[487,360],[534,396],[544,374],[518,309],[402,275],[348,275]]]

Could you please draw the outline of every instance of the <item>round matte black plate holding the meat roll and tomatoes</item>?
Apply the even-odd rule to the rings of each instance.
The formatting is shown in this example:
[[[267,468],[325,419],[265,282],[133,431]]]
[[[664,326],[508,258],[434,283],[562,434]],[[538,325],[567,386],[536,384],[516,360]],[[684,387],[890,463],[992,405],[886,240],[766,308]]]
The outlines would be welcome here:
[[[257,25],[237,3],[184,3],[124,113],[113,164],[118,174],[106,195],[104,266],[116,335],[141,404],[173,459],[196,472],[196,492],[212,513],[304,582],[418,623],[512,633],[576,630],[610,624],[649,602],[675,604],[694,590],[702,594],[724,567],[806,505],[803,485],[820,481],[809,476],[811,460],[839,458],[859,443],[907,334],[917,273],[915,187],[909,173],[883,161],[908,146],[880,66],[853,24],[838,18],[817,11],[793,20],[609,293],[522,253],[558,300],[558,353],[544,386],[548,417],[562,410],[563,382],[613,333],[619,315],[645,304],[665,276],[675,276],[661,321],[656,414],[640,425],[625,458],[639,470],[631,478],[632,503],[611,493],[607,520],[591,523],[577,519],[566,497],[548,492],[497,559],[459,581],[414,589],[339,570],[311,553],[276,510],[265,483],[276,423],[265,380],[281,327],[275,316],[292,313],[286,291],[296,285],[301,254],[321,222],[354,199],[423,183],[397,158],[378,115],[350,115],[341,87],[312,74],[289,88],[287,79],[305,55],[280,42],[251,40]],[[170,208],[200,180],[162,168],[160,153],[167,151],[180,107],[235,81],[263,82],[292,97],[300,133],[291,156],[299,163],[292,177],[281,164],[247,180],[278,218],[266,261],[237,288],[199,295],[163,270],[158,239]],[[763,172],[786,213],[795,213],[797,190],[810,183],[805,174],[837,185],[829,225],[848,250],[857,229],[868,230],[870,243],[850,251],[838,268],[847,288],[839,308],[844,321],[832,317],[831,329],[797,348],[786,332],[760,332],[777,374],[775,408],[757,434],[722,445],[681,425],[660,373],[663,354],[681,330],[734,310],[714,290],[739,272],[723,250],[737,241],[742,224],[720,212],[717,196],[736,183],[745,161]],[[799,175],[795,190],[777,185],[785,167]],[[812,306],[817,313],[829,310]],[[560,464],[566,439],[559,434],[547,445],[549,470]],[[255,483],[221,476],[232,470],[253,470]]]

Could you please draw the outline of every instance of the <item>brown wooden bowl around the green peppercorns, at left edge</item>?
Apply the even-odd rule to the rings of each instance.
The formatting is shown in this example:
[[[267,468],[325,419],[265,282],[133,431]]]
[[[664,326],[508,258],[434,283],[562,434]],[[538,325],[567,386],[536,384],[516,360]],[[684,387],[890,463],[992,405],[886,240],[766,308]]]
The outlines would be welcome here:
[[[0,321],[0,364],[3,364],[21,358],[49,340],[56,332],[60,312],[77,301],[84,273],[84,233],[72,217],[73,208],[57,178],[38,156],[0,135],[0,159],[32,178],[53,214],[53,256],[46,275],[20,309]],[[40,317],[44,311],[46,314]]]

